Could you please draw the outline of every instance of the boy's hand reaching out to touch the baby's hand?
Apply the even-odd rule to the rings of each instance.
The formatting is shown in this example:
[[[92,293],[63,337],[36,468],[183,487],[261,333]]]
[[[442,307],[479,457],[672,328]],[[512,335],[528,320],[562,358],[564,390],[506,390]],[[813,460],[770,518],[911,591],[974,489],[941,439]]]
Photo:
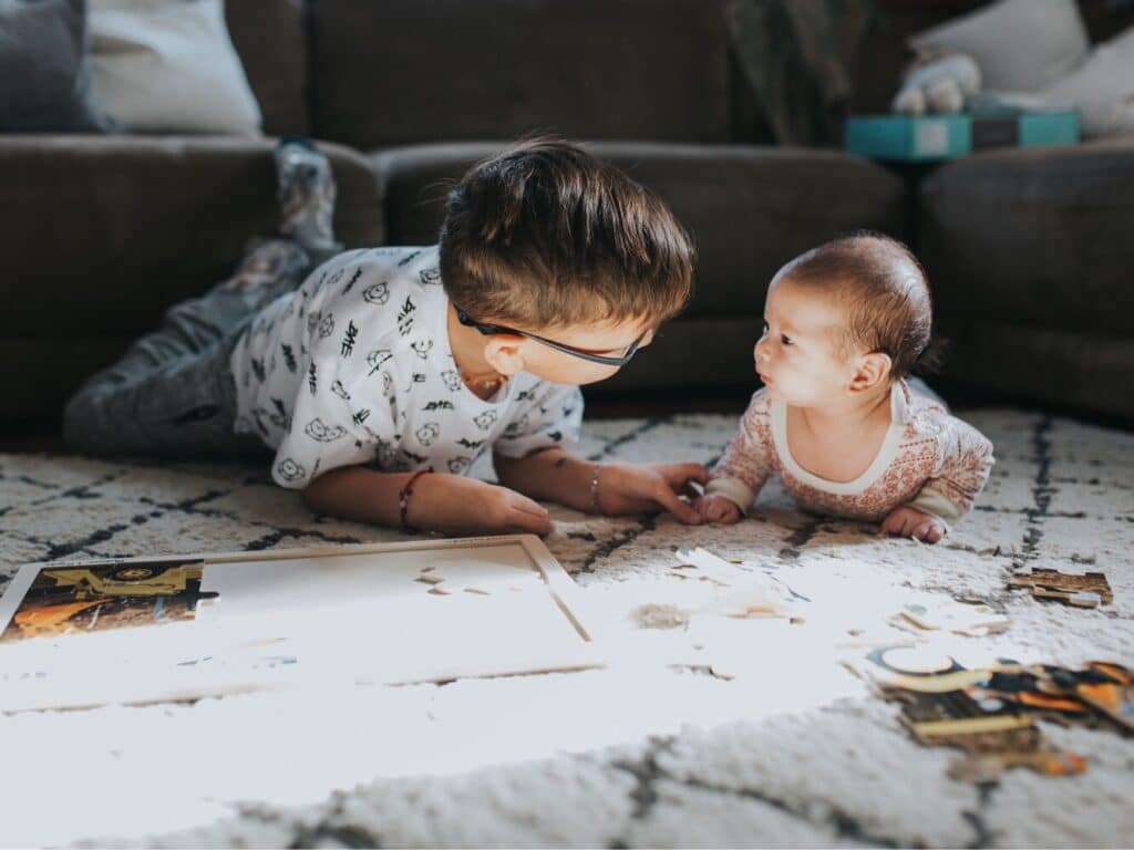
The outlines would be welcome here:
[[[709,471],[700,464],[603,464],[599,471],[599,511],[608,517],[667,510],[695,526],[701,515],[679,495],[695,496],[691,482],[704,484]]]

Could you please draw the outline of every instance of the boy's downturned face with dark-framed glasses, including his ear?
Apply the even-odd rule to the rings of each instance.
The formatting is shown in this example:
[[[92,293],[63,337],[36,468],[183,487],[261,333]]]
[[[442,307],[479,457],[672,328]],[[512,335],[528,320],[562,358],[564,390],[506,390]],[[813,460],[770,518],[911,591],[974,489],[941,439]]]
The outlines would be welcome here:
[[[607,357],[621,357],[635,342],[642,349],[653,341],[653,331],[642,320],[566,325],[527,332],[581,352]],[[619,369],[618,366],[592,363],[557,350],[539,340],[510,334],[490,338],[484,354],[485,359],[502,374],[531,372],[536,377],[558,384],[591,384],[607,380]]]

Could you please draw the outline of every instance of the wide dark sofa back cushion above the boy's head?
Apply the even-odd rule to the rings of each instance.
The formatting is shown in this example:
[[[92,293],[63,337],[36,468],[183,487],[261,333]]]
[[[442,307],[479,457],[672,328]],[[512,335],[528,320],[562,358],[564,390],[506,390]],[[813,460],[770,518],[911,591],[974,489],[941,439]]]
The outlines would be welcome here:
[[[434,139],[723,142],[720,0],[319,0],[313,127],[361,148]]]

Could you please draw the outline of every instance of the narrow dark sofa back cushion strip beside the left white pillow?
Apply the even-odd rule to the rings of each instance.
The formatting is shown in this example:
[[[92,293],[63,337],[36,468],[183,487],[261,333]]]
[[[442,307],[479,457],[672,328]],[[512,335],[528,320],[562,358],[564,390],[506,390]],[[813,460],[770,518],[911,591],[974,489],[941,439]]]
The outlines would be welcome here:
[[[269,136],[307,135],[304,0],[229,0],[225,19]]]

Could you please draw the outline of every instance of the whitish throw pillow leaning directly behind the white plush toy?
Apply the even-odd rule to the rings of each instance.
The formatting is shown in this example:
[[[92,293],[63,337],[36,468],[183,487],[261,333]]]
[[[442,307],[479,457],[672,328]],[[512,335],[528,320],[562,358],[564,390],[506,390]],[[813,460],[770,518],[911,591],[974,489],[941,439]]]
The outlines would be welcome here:
[[[984,88],[1004,92],[1038,92],[1078,68],[1090,50],[1075,0],[999,0],[917,33],[909,44],[967,53]]]

